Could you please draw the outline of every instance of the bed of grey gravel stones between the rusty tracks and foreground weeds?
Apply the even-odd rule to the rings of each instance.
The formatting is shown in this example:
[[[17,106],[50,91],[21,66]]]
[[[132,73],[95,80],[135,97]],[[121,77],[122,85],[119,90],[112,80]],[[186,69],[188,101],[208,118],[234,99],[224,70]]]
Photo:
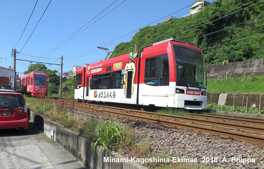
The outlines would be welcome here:
[[[86,112],[101,120],[119,119],[132,126],[140,140],[150,142],[151,151],[171,157],[197,158],[204,166],[217,169],[264,169],[262,144],[204,134],[193,130],[121,118],[103,113]],[[215,160],[217,159],[217,160]],[[255,161],[253,161],[253,159]],[[244,160],[244,161],[243,161]]]

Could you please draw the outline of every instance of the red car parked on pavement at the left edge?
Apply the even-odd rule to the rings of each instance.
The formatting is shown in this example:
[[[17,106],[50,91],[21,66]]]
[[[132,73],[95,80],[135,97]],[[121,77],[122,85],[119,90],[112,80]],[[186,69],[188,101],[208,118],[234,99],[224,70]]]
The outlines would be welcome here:
[[[0,129],[21,128],[28,133],[29,118],[26,101],[15,90],[0,89]]]

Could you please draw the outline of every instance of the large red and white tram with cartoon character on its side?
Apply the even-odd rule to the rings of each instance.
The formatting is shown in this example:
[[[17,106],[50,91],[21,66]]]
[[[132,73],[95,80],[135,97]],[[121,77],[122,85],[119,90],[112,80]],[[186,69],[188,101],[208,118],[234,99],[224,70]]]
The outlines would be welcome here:
[[[205,109],[205,69],[201,49],[171,38],[78,68],[75,99]]]

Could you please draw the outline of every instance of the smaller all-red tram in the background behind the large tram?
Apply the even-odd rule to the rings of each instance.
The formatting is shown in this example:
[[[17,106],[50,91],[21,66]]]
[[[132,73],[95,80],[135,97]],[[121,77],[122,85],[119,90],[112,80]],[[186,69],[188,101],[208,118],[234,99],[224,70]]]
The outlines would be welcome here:
[[[46,97],[47,81],[44,71],[34,70],[22,78],[22,92],[32,97]]]

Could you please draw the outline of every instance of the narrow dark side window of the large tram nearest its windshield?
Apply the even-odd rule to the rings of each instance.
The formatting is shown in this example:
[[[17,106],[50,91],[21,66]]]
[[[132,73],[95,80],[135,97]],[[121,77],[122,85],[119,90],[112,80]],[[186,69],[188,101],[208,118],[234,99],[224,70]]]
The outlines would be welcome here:
[[[160,58],[160,79],[159,85],[170,84],[169,59],[168,55],[162,55]]]

